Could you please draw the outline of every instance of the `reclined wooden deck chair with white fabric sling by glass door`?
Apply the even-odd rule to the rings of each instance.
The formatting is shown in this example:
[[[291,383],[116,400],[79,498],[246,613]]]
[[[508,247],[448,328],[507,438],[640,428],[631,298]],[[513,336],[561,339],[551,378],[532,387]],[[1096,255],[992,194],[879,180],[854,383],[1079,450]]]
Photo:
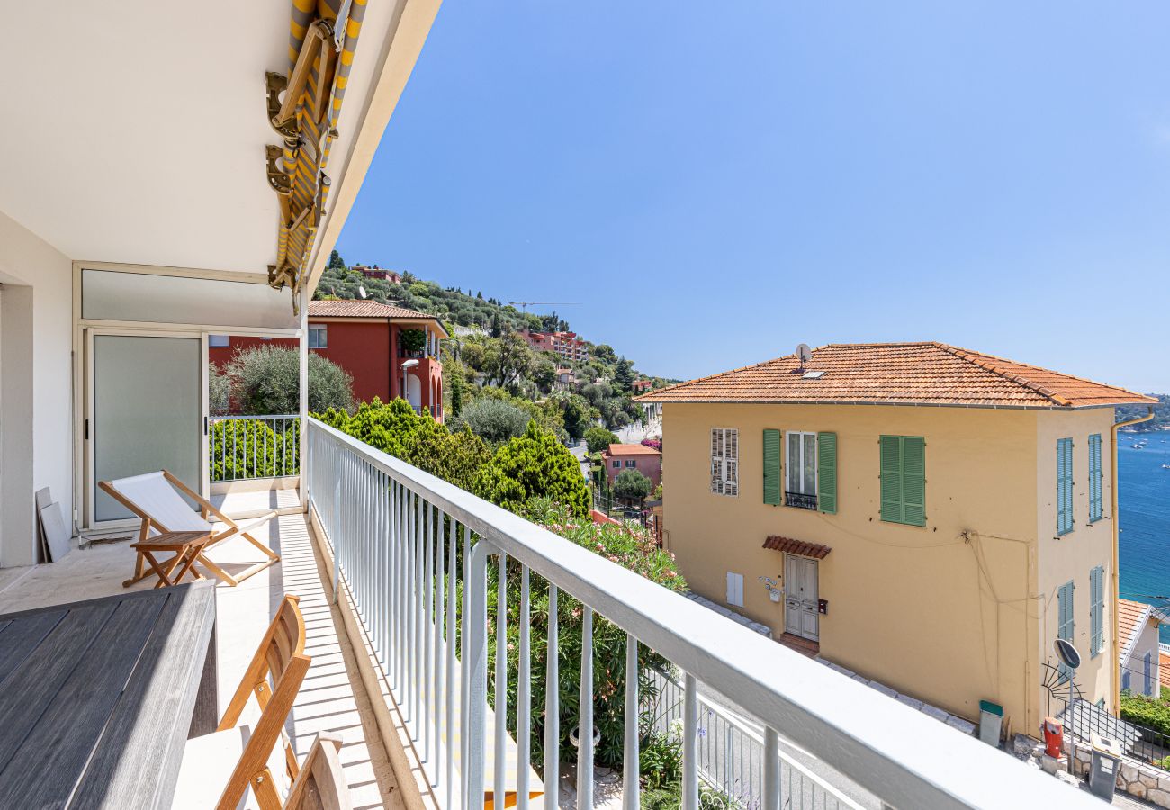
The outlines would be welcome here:
[[[249,520],[247,523],[236,523],[216,509],[211,501],[202,497],[165,469],[144,475],[131,475],[130,478],[122,478],[115,481],[98,481],[97,486],[118,503],[130,509],[138,517],[142,517],[142,527],[138,530],[139,542],[149,540],[152,533],[159,531],[209,533],[211,540],[199,551],[197,561],[229,585],[236,585],[254,574],[259,574],[269,565],[280,562],[280,555],[249,534],[252,529],[263,526],[276,517],[275,512],[264,513],[260,517]],[[195,502],[199,507],[198,514],[183,499],[184,495]],[[214,527],[207,520],[211,515],[214,515],[227,528],[219,533],[214,531]],[[266,560],[233,576],[208,560],[207,551],[238,535],[260,549]],[[152,571],[146,568],[146,562],[143,551],[138,549],[138,557],[135,562],[135,575],[122,584],[129,588],[143,577],[150,576]]]

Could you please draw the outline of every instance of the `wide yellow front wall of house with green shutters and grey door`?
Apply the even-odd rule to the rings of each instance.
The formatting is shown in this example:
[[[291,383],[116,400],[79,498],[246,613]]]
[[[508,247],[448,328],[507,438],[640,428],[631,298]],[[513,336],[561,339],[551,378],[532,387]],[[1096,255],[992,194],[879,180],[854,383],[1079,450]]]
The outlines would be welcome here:
[[[1095,413],[1112,418],[1108,409]],[[820,597],[828,599],[828,615],[820,617],[825,658],[972,720],[980,699],[993,700],[1014,730],[1034,733],[1044,644],[1032,598],[1037,567],[1052,565],[1045,583],[1061,572],[1053,555],[1035,556],[1038,526],[1047,520],[1039,514],[1045,499],[1038,487],[1046,485],[1037,461],[1039,417],[958,407],[667,404],[663,508],[672,549],[691,588],[716,602],[725,600],[727,572],[742,574],[741,612],[778,636],[783,603],[769,599],[758,577],[783,578],[784,561],[762,548],[764,538],[831,547],[819,570]],[[711,427],[739,430],[737,497],[710,493]],[[764,428],[838,434],[835,515],[763,502]],[[924,528],[881,521],[881,434],[925,438]],[[1052,447],[1054,464],[1054,441]],[[1054,467],[1052,475],[1054,494]],[[1078,497],[1079,509],[1082,501],[1087,515],[1087,495]],[[1095,543],[1093,549],[1097,554]],[[1101,560],[1108,565],[1107,545]],[[1067,564],[1085,568],[1078,597],[1087,600],[1090,565]],[[1086,629],[1087,611],[1086,602]]]

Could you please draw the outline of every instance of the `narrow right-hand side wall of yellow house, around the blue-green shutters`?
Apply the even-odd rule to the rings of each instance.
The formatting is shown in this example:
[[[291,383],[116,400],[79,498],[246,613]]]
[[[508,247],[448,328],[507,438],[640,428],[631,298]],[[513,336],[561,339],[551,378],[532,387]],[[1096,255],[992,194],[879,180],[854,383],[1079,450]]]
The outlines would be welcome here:
[[[1081,653],[1081,668],[1076,682],[1085,699],[1096,702],[1104,698],[1113,702],[1113,611],[1117,595],[1113,589],[1113,529],[1110,508],[1113,446],[1113,409],[1093,409],[1074,413],[1042,412],[1037,417],[1037,592],[1040,595],[1040,616],[1037,640],[1038,660],[1055,664],[1052,643],[1057,638],[1057,590],[1066,582],[1073,591],[1073,641]],[[1089,522],[1089,441],[1092,433],[1101,434],[1102,515]],[[1073,530],[1057,536],[1057,439],[1073,440]],[[1104,567],[1104,648],[1089,655],[1089,570]],[[1046,695],[1045,695],[1046,696]]]

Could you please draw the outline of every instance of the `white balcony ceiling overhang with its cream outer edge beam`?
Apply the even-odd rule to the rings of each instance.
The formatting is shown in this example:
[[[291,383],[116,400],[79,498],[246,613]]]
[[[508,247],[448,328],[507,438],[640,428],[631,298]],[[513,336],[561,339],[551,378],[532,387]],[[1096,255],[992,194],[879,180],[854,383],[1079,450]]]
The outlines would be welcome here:
[[[310,253],[331,249],[439,0],[369,0]],[[77,261],[267,273],[280,205],[264,76],[289,66],[289,0],[0,0],[0,211]],[[326,241],[328,240],[328,241]],[[319,275],[319,268],[317,274]]]

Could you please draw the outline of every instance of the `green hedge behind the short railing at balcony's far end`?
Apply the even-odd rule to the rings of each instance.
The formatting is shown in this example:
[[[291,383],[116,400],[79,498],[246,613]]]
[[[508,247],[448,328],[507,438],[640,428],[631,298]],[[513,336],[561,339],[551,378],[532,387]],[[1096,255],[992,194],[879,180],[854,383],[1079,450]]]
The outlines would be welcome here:
[[[275,425],[278,430],[273,430]],[[223,419],[212,425],[212,481],[276,478],[300,473],[297,419]]]

